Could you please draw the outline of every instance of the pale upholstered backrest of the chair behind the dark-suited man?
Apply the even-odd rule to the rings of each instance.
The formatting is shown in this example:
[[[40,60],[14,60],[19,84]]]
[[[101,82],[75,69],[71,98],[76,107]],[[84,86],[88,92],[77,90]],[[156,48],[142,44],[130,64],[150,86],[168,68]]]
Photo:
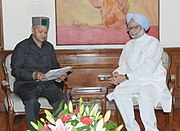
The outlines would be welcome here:
[[[5,72],[5,77],[9,82],[9,86],[11,91],[13,92],[14,90],[14,82],[15,82],[15,78],[11,75],[11,56],[12,54],[9,54],[6,58],[5,61],[3,63],[3,68],[4,68],[4,72]]]

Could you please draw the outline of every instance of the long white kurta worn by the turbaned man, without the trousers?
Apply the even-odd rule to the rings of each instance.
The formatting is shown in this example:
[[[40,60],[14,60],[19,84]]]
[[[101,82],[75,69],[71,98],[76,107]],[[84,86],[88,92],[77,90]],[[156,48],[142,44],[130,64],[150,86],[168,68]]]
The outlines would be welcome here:
[[[166,70],[162,66],[163,49],[159,41],[147,34],[130,40],[124,47],[115,70],[127,74],[129,80],[117,85],[107,96],[113,100],[121,94],[144,94],[156,107],[160,102],[165,112],[171,111],[172,97],[166,85]]]

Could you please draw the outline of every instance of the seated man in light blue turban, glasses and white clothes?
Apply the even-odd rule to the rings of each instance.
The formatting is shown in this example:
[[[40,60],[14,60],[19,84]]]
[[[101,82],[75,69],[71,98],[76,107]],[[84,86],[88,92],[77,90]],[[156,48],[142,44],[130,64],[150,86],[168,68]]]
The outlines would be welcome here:
[[[160,102],[165,112],[171,111],[171,94],[166,86],[166,70],[162,66],[163,49],[159,41],[146,34],[150,22],[138,13],[126,16],[132,38],[124,46],[119,67],[113,72],[114,91],[107,96],[115,101],[128,131],[140,131],[135,120],[132,98],[136,97],[146,131],[158,131],[154,108]]]

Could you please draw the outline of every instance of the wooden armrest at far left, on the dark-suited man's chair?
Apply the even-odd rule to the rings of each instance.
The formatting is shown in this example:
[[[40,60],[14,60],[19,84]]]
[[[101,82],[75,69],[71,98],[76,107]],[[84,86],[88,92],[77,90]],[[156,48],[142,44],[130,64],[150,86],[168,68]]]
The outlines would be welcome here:
[[[13,104],[13,101],[11,98],[11,90],[10,90],[9,83],[6,80],[3,80],[1,84],[2,84],[3,90],[5,91],[5,94],[7,97],[8,110],[13,110],[14,104]]]

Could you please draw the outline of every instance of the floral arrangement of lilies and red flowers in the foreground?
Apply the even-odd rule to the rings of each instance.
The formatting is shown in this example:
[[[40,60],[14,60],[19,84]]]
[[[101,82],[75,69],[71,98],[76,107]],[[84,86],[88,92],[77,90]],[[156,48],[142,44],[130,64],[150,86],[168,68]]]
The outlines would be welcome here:
[[[62,110],[62,103],[59,105],[58,113]],[[111,116],[111,111],[108,110],[103,116],[98,112],[98,104],[88,102],[83,104],[80,98],[78,106],[69,101],[69,104],[64,105],[64,109],[58,113],[55,118],[48,110],[45,110],[46,120],[40,118],[38,125],[31,122],[31,125],[38,131],[120,131],[123,125],[119,127],[115,122],[108,122]]]

